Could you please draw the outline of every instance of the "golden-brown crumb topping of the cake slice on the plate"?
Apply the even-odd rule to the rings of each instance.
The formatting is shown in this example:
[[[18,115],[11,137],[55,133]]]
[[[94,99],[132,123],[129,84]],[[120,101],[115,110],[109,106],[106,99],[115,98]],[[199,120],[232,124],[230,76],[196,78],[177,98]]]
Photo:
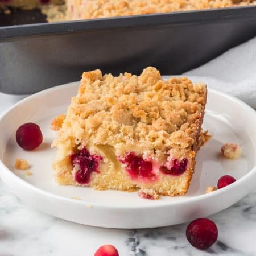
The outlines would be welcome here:
[[[191,150],[200,133],[206,93],[204,84],[193,85],[186,77],[164,81],[153,67],[140,76],[84,72],[53,144],[108,144],[119,155],[136,149],[150,155],[174,147]]]

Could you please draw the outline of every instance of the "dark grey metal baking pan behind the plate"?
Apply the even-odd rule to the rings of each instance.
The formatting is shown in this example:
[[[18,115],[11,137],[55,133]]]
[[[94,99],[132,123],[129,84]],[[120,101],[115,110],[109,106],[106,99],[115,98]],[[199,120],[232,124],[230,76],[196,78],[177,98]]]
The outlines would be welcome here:
[[[8,25],[29,19],[1,15],[0,91],[13,94],[77,81],[96,68],[138,74],[153,65],[179,74],[256,36],[256,7],[18,26]]]

